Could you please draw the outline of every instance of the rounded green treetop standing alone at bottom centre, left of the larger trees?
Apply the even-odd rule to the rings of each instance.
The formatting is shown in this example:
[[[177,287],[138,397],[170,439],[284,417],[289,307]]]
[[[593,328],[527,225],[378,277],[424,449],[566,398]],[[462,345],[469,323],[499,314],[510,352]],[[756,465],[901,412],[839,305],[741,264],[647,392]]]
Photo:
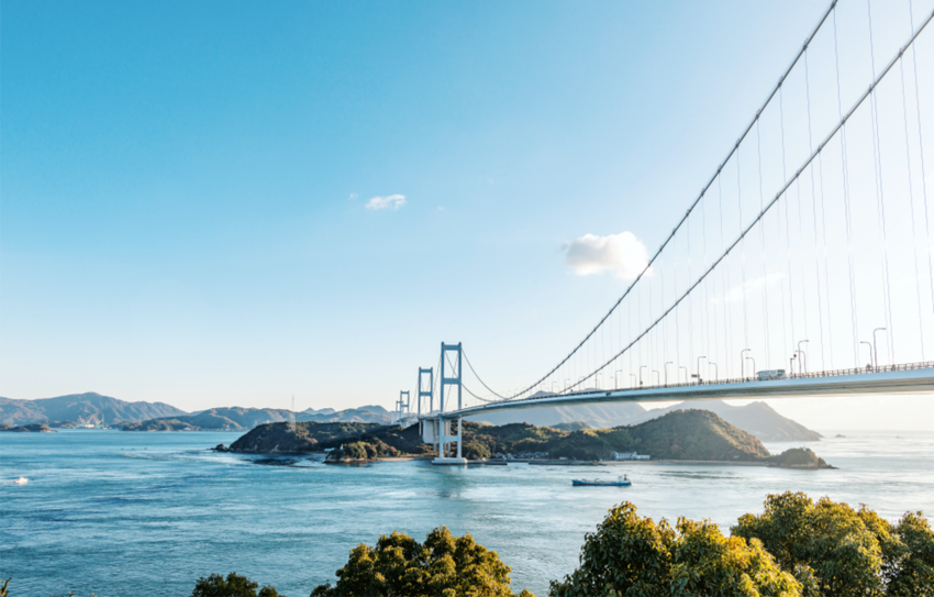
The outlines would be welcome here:
[[[393,532],[375,548],[354,548],[336,585],[320,585],[311,597],[514,597],[509,572],[496,552],[469,534],[454,537],[442,527],[420,544]],[[519,597],[534,596],[523,590]]]

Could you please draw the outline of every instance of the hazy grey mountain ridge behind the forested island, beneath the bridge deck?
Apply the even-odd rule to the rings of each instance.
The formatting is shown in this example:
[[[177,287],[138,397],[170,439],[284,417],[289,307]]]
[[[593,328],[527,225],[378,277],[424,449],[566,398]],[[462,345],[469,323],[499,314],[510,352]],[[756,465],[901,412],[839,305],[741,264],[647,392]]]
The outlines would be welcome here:
[[[782,417],[765,402],[750,402],[737,407],[727,405],[723,400],[681,402],[654,410],[646,410],[636,402],[543,407],[490,412],[469,417],[469,420],[497,425],[525,422],[537,427],[556,427],[571,431],[579,429],[580,423],[587,423],[594,429],[640,424],[685,408],[714,412],[724,421],[752,433],[761,442],[816,441],[822,436],[816,431]]]

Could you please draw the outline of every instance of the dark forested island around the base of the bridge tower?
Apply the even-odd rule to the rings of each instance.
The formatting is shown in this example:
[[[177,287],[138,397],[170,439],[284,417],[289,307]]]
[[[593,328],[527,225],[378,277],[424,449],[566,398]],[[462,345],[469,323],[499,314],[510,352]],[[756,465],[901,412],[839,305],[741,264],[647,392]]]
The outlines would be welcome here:
[[[353,463],[386,457],[431,456],[418,424],[376,423],[263,424],[244,434],[231,452],[300,454],[329,452],[326,462]],[[635,425],[611,429],[554,429],[527,423],[490,425],[464,421],[462,453],[470,461],[492,457],[596,462],[618,452],[648,454],[652,460],[758,463],[827,468],[809,449],[772,456],[759,440],[707,410],[677,410]]]

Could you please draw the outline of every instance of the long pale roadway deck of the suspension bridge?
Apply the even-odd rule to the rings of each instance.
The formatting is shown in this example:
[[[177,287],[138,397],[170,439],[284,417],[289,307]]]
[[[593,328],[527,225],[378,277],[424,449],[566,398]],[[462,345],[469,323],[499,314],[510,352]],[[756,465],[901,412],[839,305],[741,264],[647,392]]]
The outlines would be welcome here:
[[[521,400],[501,400],[446,411],[444,418],[469,417],[497,410],[564,407],[600,402],[653,402],[732,398],[793,398],[855,394],[934,394],[934,363],[879,367],[876,371],[843,369],[794,375],[785,379],[733,379],[653,386],[638,389],[548,394]],[[435,414],[436,416],[436,414]]]

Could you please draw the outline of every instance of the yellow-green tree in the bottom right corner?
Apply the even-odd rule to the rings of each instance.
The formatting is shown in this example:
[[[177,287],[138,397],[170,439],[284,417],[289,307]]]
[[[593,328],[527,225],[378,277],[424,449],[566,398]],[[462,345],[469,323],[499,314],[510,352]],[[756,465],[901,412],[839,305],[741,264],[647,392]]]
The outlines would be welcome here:
[[[934,533],[921,512],[893,526],[865,506],[791,491],[765,506],[741,517],[733,533],[760,540],[805,596],[934,595]]]

